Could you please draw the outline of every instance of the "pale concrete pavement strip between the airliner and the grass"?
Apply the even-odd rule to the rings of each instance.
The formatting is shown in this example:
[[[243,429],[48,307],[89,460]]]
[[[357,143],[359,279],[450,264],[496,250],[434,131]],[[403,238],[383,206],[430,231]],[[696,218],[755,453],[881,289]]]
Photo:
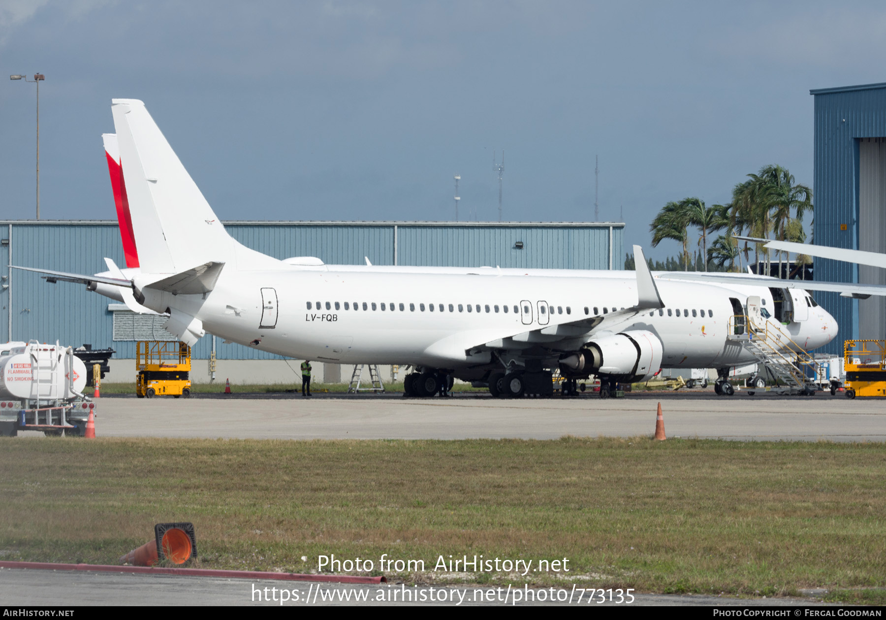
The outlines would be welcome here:
[[[644,436],[656,404],[670,437],[734,440],[886,441],[882,399],[843,396],[714,396],[712,392],[636,394],[602,400],[518,400],[489,396],[411,399],[323,395],[314,398],[115,398],[97,401],[97,436],[255,439],[556,439]],[[29,433],[28,433],[29,434]]]

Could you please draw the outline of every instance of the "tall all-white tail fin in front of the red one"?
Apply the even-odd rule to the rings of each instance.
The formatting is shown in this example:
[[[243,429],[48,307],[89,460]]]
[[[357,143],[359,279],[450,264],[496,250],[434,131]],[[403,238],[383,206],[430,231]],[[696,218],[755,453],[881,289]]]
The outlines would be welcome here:
[[[237,264],[238,255],[258,255],[224,230],[144,103],[113,99],[111,109],[120,148],[120,187],[126,189],[143,273],[178,273],[206,263]]]

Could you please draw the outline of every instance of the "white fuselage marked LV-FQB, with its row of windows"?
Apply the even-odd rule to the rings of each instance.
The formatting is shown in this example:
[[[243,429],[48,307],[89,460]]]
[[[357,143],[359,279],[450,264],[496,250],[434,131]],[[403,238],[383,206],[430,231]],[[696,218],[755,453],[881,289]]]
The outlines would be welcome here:
[[[222,271],[209,294],[173,295],[145,288],[144,305],[158,312],[180,310],[199,318],[210,334],[284,356],[457,369],[487,363],[482,355],[470,354],[487,342],[581,318],[606,317],[637,303],[633,271],[548,277],[497,275],[501,271],[487,269],[472,275],[325,267]],[[514,271],[518,270],[506,272]],[[658,280],[657,286],[664,310],[610,320],[593,335],[648,330],[662,341],[663,367],[755,361],[740,343],[727,338],[734,315],[730,298],[743,306],[749,294],[756,294],[768,298],[771,307],[766,286],[665,280]],[[811,310],[802,322],[782,326],[771,319],[772,324],[808,349],[820,347],[834,337],[836,323],[820,307]],[[566,341],[562,350],[580,344]],[[558,345],[550,346],[556,350]]]

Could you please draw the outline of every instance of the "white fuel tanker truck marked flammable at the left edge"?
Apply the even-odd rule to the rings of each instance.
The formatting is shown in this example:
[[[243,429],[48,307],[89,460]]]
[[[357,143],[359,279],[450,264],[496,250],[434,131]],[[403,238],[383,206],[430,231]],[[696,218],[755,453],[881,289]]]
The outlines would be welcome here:
[[[86,365],[74,349],[55,344],[0,344],[0,435],[42,430],[83,436],[95,404],[83,396]]]

